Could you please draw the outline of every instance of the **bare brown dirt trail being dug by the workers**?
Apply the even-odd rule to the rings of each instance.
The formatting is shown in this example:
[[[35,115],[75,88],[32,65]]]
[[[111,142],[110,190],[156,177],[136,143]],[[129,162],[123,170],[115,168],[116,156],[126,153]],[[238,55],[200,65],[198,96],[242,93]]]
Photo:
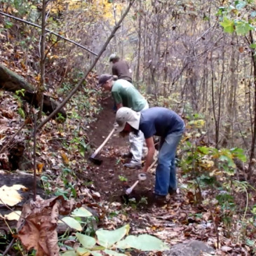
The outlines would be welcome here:
[[[89,137],[94,149],[105,140],[114,124],[115,114],[112,99],[105,100],[102,107],[97,121],[90,125]],[[97,156],[103,160],[101,166],[95,166],[92,163],[93,168],[89,179],[93,181],[95,189],[107,201],[120,201],[124,191],[137,180],[140,170],[123,168],[123,163],[128,160],[122,159],[121,155],[128,149],[128,137],[119,137],[119,134],[114,133]],[[154,175],[148,176],[147,182],[138,184],[131,196],[140,200],[142,196],[147,196],[153,189]]]

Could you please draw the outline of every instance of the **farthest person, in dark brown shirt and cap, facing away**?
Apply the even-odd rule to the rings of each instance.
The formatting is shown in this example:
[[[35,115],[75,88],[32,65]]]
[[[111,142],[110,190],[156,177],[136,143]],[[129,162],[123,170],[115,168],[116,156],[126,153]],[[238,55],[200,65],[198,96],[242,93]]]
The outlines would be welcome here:
[[[125,79],[132,83],[132,71],[126,60],[120,60],[119,56],[112,54],[109,56],[109,62],[112,62],[112,74],[119,79]]]

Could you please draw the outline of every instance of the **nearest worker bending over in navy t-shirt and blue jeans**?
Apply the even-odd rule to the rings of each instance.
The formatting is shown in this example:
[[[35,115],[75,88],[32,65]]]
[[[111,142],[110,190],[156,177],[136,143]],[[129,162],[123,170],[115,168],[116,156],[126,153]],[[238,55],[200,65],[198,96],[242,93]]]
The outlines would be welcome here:
[[[184,121],[170,109],[151,107],[142,112],[135,112],[128,107],[121,107],[116,112],[116,131],[126,135],[139,130],[144,133],[148,153],[142,168],[147,173],[155,153],[154,135],[160,136],[158,165],[156,167],[155,198],[165,201],[166,196],[177,189],[175,154],[182,134]]]

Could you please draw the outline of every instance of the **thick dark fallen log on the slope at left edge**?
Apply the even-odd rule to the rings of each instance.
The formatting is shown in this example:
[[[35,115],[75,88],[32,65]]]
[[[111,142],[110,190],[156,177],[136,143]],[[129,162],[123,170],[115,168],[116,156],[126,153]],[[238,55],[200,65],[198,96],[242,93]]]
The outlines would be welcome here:
[[[24,89],[24,95],[20,94],[20,97],[29,102],[29,104],[34,107],[39,107],[39,102],[36,100],[36,93],[34,87],[25,81],[22,76],[19,76],[15,72],[12,72],[4,65],[0,64],[0,89],[8,90],[10,92],[15,93],[17,90]],[[45,114],[52,113],[58,107],[58,102],[55,102],[47,95],[43,95],[43,112]],[[67,118],[67,114],[65,110],[62,108],[57,113],[61,114],[65,119]],[[55,118],[56,116],[53,116]]]

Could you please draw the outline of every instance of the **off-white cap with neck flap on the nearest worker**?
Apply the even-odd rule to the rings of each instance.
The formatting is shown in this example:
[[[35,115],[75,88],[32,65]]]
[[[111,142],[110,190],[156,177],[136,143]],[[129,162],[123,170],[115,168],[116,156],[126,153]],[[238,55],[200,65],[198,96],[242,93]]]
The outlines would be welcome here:
[[[126,123],[139,130],[140,112],[135,112],[128,107],[121,107],[116,112],[116,131],[120,133],[124,129],[124,126],[126,126]]]

